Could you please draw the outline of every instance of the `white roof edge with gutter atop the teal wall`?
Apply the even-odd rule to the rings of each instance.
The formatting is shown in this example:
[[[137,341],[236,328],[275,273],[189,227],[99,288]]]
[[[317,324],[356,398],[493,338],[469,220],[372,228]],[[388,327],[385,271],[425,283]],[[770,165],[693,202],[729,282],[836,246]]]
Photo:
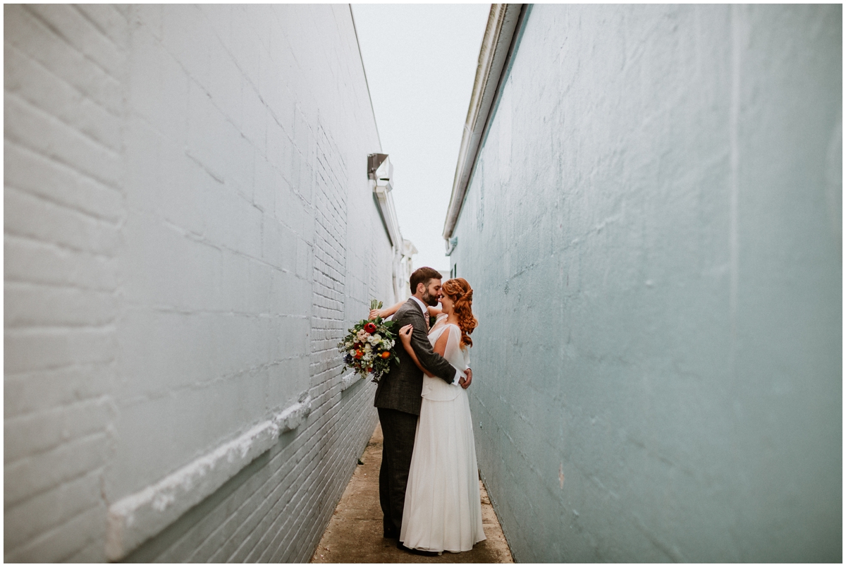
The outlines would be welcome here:
[[[443,224],[444,239],[452,237],[461,208],[464,206],[467,185],[470,183],[470,175],[479,156],[482,136],[494,107],[493,103],[524,6],[525,4],[491,4],[485,36],[481,41],[479,63],[476,65],[470,107],[467,110],[464,132],[461,135],[459,159],[453,178],[453,192],[449,196],[447,218]]]

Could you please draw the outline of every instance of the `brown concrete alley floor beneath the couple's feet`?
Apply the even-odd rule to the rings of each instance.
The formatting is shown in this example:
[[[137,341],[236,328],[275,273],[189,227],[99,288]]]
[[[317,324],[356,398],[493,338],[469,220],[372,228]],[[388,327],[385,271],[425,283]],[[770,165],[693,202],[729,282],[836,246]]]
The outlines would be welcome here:
[[[481,518],[487,539],[464,553],[424,557],[400,551],[396,540],[382,537],[379,464],[382,427],[376,425],[311,563],[514,563],[485,486],[481,483]]]

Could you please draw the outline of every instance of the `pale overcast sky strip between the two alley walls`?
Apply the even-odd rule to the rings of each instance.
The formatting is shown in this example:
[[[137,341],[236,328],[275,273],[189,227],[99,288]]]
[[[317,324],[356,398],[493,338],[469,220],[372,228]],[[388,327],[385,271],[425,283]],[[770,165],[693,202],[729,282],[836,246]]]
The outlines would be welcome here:
[[[491,4],[353,4],[399,227],[448,275],[443,222]]]

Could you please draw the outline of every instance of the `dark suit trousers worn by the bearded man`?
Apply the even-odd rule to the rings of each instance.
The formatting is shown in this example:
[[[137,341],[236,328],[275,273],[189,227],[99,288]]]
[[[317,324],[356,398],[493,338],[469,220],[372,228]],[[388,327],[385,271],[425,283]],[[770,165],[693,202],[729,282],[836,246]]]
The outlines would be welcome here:
[[[405,487],[409,483],[411,454],[415,449],[417,416],[379,408],[382,424],[382,465],[379,468],[379,504],[385,537],[399,537],[403,526]]]

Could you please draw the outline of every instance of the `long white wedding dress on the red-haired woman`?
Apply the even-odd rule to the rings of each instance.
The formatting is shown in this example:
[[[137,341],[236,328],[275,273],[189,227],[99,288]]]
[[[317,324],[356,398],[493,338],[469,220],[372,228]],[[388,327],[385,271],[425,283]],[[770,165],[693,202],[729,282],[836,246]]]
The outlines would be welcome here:
[[[405,489],[399,541],[425,551],[470,551],[485,539],[481,526],[479,471],[467,391],[458,385],[470,364],[460,348],[461,330],[441,315],[429,333],[431,344],[449,333],[444,358],[460,372],[448,384],[423,377],[423,401]]]

